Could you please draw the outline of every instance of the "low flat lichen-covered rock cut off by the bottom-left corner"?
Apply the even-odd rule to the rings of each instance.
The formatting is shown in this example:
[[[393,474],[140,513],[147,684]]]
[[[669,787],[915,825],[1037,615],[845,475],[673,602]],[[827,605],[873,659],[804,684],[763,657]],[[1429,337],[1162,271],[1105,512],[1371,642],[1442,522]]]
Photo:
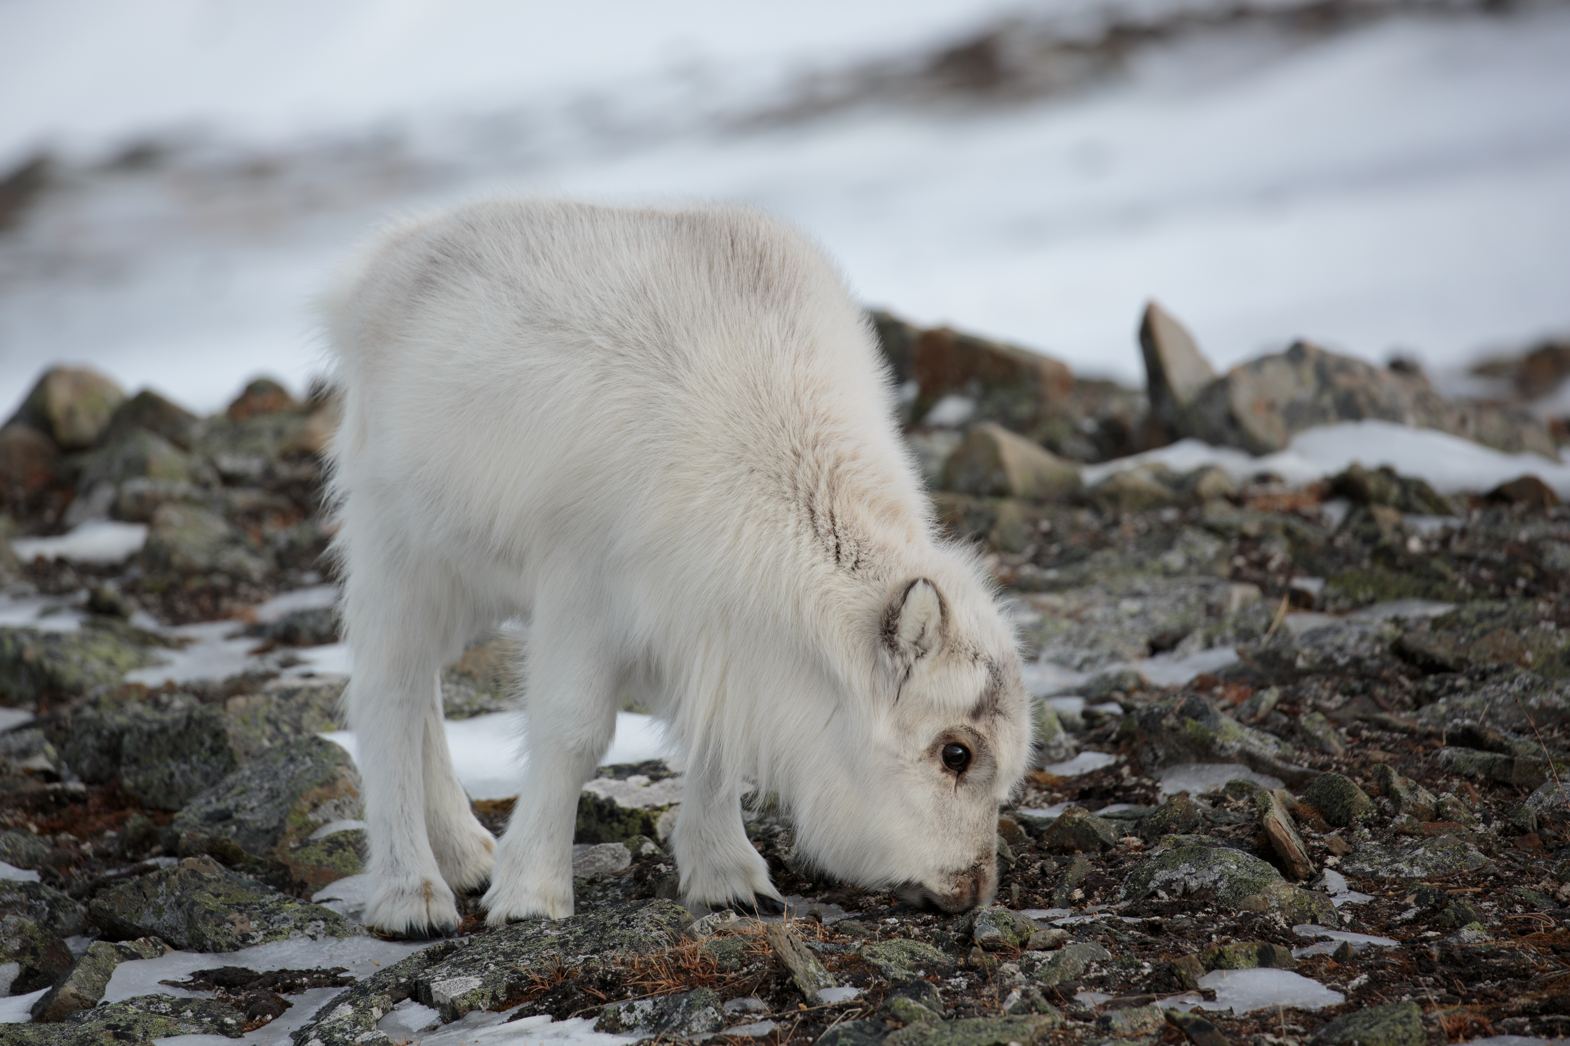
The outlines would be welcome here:
[[[143,1046],[171,1035],[240,1038],[245,1016],[212,999],[137,996],[77,1010],[55,1024],[6,1024],[5,1046]]]

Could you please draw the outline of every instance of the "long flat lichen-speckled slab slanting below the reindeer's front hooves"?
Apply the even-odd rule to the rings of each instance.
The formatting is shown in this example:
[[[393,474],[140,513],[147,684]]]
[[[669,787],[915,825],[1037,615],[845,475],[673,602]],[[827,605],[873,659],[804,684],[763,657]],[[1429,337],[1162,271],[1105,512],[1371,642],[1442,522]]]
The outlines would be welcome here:
[[[692,916],[669,900],[609,905],[568,919],[529,919],[506,930],[436,944],[367,977],[328,1002],[294,1032],[297,1046],[386,1046],[377,1030],[396,1004],[416,999],[455,1021],[474,1010],[506,1010],[521,1001],[534,975],[576,969],[677,944]]]

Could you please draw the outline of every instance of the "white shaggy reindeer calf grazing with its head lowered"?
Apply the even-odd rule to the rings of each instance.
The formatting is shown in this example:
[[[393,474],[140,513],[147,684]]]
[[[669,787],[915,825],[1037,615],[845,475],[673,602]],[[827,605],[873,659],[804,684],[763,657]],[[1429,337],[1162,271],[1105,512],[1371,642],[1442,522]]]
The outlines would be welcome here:
[[[1014,635],[936,538],[873,336],[812,243],[738,207],[484,202],[388,232],[328,321],[371,924],[447,930],[452,891],[487,880],[491,924],[571,914],[578,792],[630,687],[688,756],[689,906],[777,899],[754,787],[831,875],[992,895],[1028,751]],[[436,674],[513,615],[528,765],[496,844]]]

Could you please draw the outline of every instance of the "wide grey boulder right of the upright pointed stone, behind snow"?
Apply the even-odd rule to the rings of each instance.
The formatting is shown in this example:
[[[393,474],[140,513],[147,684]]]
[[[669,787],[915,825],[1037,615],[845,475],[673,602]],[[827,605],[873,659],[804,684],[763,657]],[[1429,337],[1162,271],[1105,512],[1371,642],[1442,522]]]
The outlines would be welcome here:
[[[1181,434],[1265,455],[1306,428],[1363,419],[1437,428],[1498,450],[1557,459],[1548,428],[1526,411],[1451,403],[1421,376],[1308,342],[1234,367],[1207,384],[1184,414]]]

